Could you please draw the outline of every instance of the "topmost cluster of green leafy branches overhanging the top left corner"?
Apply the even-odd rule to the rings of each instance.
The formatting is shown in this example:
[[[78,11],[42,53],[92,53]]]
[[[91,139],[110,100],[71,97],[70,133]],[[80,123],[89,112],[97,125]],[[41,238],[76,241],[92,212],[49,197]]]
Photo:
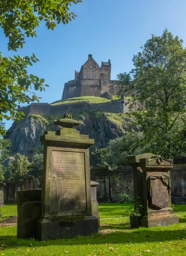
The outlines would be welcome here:
[[[36,36],[36,27],[43,20],[48,29],[56,23],[68,23],[76,15],[69,11],[72,3],[81,0],[2,0],[0,1],[0,26],[8,37],[8,50],[23,48],[25,35]]]

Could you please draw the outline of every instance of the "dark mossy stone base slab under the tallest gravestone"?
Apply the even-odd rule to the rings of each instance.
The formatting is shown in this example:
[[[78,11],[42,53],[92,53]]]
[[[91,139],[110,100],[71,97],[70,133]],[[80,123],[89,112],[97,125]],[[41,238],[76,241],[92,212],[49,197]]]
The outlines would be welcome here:
[[[72,216],[71,216],[72,217]],[[70,218],[55,217],[44,218],[37,221],[37,239],[40,241],[47,239],[72,238],[76,236],[90,236],[97,233],[98,220],[94,216],[79,216],[79,219],[73,220],[77,216]],[[68,220],[69,218],[69,220]]]

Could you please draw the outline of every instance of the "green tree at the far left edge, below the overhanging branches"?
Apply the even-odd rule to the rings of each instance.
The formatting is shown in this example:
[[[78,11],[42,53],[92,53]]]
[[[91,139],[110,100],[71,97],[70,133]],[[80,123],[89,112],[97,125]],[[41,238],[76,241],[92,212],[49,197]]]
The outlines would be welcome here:
[[[3,126],[3,124],[1,124]],[[0,182],[4,180],[4,167],[2,163],[6,160],[9,156],[10,151],[7,149],[11,145],[9,139],[0,138]]]

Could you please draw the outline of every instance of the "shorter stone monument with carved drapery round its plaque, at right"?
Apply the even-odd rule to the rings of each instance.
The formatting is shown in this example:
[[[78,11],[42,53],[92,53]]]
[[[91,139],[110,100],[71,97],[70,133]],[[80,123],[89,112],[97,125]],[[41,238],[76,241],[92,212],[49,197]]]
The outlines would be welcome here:
[[[178,224],[179,218],[171,207],[169,171],[173,160],[147,153],[127,157],[127,162],[134,168],[134,212],[139,210],[138,204],[143,205],[141,216],[130,217],[131,227]]]

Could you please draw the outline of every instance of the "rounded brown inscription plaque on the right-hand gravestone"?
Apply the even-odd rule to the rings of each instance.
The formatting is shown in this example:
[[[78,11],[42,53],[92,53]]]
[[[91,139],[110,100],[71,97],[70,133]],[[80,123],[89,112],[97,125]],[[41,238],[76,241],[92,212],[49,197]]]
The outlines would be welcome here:
[[[168,187],[163,185],[160,179],[152,180],[152,207],[161,209],[165,207],[170,200]]]

